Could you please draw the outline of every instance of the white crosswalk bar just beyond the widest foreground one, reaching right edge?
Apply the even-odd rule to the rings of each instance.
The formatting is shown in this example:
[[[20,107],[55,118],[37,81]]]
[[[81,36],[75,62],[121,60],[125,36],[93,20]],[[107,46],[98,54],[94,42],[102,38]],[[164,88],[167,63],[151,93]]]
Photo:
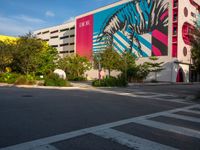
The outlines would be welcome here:
[[[170,124],[166,124],[166,123],[161,123],[161,122],[152,121],[152,120],[145,120],[145,119],[136,120],[136,121],[134,121],[134,123],[138,123],[138,124],[142,124],[145,126],[149,126],[149,127],[153,127],[153,128],[170,131],[170,132],[174,132],[174,133],[178,133],[178,134],[182,134],[182,135],[200,139],[200,132],[197,130],[189,129],[189,128],[179,127],[179,126],[175,126],[175,125],[170,125]]]

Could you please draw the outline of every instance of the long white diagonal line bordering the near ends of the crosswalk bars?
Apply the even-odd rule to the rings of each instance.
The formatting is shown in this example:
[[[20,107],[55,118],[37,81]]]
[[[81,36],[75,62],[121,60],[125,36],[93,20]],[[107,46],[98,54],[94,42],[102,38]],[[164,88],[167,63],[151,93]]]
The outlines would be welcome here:
[[[96,132],[96,131],[99,131],[99,130],[105,130],[105,129],[114,128],[114,127],[117,127],[117,126],[122,126],[124,124],[139,121],[141,119],[158,117],[158,116],[164,115],[166,113],[175,113],[175,112],[178,112],[178,111],[182,111],[184,109],[192,109],[192,108],[195,108],[197,106],[199,106],[199,105],[195,104],[195,105],[191,105],[191,106],[187,106],[187,107],[183,107],[183,108],[177,108],[177,109],[168,110],[168,111],[164,111],[164,112],[158,112],[158,113],[149,114],[149,115],[145,115],[145,116],[133,117],[133,118],[130,118],[130,119],[120,120],[120,121],[107,123],[107,124],[103,124],[103,125],[99,125],[99,126],[95,126],[95,127],[80,129],[80,130],[67,132],[67,133],[63,133],[63,134],[58,134],[58,135],[54,135],[54,136],[50,136],[50,137],[46,137],[46,138],[41,138],[41,139],[37,139],[37,140],[34,140],[34,141],[29,141],[29,142],[13,145],[13,146],[8,146],[8,147],[5,147],[5,148],[0,148],[0,150],[30,150],[30,149],[33,149],[35,147],[40,147],[40,146],[43,146],[43,145],[49,145],[51,143],[56,143],[56,142],[59,142],[59,141],[72,139],[72,138],[82,136],[82,135],[85,135],[85,134],[88,134],[88,133],[91,133],[91,132]]]

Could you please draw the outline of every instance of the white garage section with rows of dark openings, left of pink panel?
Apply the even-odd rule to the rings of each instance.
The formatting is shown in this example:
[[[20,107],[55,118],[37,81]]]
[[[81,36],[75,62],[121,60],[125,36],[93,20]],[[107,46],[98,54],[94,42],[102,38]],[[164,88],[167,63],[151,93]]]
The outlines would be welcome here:
[[[61,57],[75,53],[75,22],[40,29],[33,34],[55,47]]]

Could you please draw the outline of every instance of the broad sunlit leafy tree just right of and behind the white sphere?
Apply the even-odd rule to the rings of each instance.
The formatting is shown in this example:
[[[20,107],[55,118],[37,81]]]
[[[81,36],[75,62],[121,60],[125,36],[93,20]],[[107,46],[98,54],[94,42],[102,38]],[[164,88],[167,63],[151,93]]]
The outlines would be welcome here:
[[[66,72],[68,79],[75,80],[84,78],[84,73],[91,69],[91,63],[86,57],[72,55],[60,59],[58,67]]]

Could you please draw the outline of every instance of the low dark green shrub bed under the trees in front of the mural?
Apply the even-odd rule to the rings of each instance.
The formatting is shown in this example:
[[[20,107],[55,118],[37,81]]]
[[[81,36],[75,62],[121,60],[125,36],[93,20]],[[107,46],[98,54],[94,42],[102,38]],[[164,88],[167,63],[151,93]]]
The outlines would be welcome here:
[[[123,76],[116,77],[106,77],[102,80],[95,80],[92,82],[92,86],[95,87],[115,87],[115,86],[126,86],[127,82]]]

